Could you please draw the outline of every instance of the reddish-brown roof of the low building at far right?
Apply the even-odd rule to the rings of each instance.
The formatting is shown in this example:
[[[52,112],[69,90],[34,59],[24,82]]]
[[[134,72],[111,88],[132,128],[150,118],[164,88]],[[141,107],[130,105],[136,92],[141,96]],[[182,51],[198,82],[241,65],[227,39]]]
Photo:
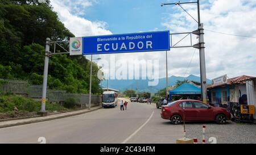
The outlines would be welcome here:
[[[234,77],[234,78],[229,78],[228,79],[228,83],[224,83],[221,85],[217,85],[217,86],[212,86],[212,85],[208,85],[207,88],[214,88],[214,87],[219,87],[219,86],[226,86],[226,85],[233,85],[233,84],[245,84],[245,82],[249,79],[255,79],[256,77],[251,77],[251,76],[239,76],[239,77]]]

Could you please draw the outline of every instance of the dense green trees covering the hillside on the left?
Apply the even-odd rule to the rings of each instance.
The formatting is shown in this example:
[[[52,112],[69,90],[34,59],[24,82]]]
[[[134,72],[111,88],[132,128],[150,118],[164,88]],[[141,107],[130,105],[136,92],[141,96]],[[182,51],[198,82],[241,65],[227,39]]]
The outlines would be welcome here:
[[[47,37],[55,41],[74,37],[52,11],[49,1],[0,0],[0,78],[25,79],[31,84],[42,85]],[[60,51],[61,48],[56,49]],[[93,64],[93,73],[97,72],[98,66]],[[90,61],[84,56],[51,56],[49,89],[88,93],[89,73]],[[94,74],[92,93],[100,93],[99,83]]]

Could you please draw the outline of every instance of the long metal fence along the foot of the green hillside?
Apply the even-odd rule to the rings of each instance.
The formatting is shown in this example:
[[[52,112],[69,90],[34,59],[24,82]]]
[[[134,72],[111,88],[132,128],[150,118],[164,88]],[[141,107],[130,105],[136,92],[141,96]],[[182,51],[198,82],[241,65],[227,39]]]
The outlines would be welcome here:
[[[29,98],[42,98],[42,85],[30,85],[28,81],[18,79],[1,79],[0,92],[26,95]],[[74,98],[77,104],[88,104],[89,94],[67,93],[66,90],[47,89],[49,102],[63,102],[67,98]],[[92,103],[100,103],[100,95],[92,95]]]

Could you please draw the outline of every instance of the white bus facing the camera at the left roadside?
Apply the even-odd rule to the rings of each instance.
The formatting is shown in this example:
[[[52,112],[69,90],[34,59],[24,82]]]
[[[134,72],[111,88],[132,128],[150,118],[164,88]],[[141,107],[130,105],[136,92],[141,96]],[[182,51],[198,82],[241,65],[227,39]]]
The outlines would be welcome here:
[[[115,106],[117,106],[117,93],[114,91],[104,91],[102,94],[102,107],[114,108]]]

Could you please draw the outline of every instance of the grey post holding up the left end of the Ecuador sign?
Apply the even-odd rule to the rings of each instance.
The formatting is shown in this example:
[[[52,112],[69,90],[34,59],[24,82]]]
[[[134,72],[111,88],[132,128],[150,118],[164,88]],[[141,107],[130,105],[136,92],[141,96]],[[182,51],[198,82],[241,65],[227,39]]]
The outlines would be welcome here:
[[[48,76],[48,65],[49,65],[49,44],[50,39],[47,37],[46,39],[46,56],[44,58],[44,76],[43,76],[43,93],[42,93],[42,99],[41,99],[41,110],[39,114],[42,116],[47,115],[46,112],[46,91],[47,91],[47,76]]]

